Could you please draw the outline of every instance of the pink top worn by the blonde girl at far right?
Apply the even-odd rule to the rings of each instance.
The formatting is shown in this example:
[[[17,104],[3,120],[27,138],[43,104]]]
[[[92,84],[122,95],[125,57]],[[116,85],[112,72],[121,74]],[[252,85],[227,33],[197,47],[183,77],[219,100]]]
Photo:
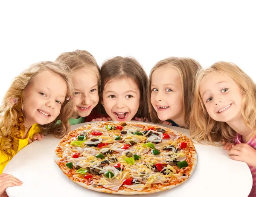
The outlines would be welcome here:
[[[235,144],[242,144],[241,143],[241,135],[237,133],[235,138]],[[256,149],[256,139],[250,138],[250,140],[246,143]],[[249,166],[250,171],[253,175],[253,188],[248,197],[256,197],[256,168],[253,166]]]

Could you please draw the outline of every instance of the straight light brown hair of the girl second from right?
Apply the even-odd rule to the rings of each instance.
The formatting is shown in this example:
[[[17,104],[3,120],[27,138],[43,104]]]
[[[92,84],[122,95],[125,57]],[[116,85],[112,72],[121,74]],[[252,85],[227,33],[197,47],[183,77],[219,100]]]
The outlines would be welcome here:
[[[197,71],[202,68],[201,65],[192,58],[182,57],[169,57],[157,62],[156,65],[151,69],[148,81],[148,109],[151,117],[151,121],[157,123],[159,118],[157,112],[151,104],[151,81],[152,75],[157,68],[160,67],[174,67],[180,74],[181,84],[183,88],[183,114],[185,118],[186,128],[189,128],[189,115],[191,112],[192,98],[194,94],[195,76]]]

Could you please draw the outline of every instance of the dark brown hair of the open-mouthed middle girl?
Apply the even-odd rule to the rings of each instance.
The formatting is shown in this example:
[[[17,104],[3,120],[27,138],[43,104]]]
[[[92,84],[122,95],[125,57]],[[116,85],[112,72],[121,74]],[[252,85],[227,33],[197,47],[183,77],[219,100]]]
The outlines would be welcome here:
[[[124,77],[131,78],[137,84],[140,90],[140,107],[136,115],[140,118],[148,118],[148,101],[147,101],[147,83],[148,76],[142,65],[132,57],[116,56],[108,59],[102,64],[100,69],[102,90],[100,100],[102,101],[102,93],[105,84],[112,79],[122,79]],[[101,112],[106,114],[104,107],[101,106]]]

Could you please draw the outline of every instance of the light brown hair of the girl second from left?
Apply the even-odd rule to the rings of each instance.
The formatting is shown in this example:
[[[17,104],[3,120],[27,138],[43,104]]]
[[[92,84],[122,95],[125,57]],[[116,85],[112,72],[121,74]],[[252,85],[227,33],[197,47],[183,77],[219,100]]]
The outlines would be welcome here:
[[[100,69],[94,56],[85,50],[76,50],[72,52],[61,53],[56,62],[61,62],[67,65],[71,71],[79,70],[81,68],[92,68],[95,70],[98,79],[98,89],[100,90]]]

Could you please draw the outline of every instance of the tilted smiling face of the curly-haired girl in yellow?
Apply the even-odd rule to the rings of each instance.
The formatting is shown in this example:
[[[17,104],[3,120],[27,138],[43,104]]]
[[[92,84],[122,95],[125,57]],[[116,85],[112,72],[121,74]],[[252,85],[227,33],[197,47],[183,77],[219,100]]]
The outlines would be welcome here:
[[[65,80],[56,73],[46,70],[38,74],[25,88],[23,109],[25,126],[48,124],[57,118],[67,95]]]

